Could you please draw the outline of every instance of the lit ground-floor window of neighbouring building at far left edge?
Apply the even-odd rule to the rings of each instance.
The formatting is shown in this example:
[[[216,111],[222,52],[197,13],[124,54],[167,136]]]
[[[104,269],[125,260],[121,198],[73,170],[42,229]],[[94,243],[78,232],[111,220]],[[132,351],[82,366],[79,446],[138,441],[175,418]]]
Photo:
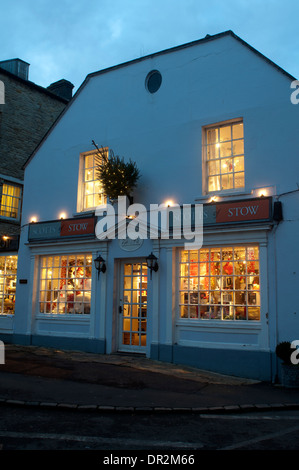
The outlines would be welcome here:
[[[0,313],[15,312],[17,285],[17,256],[0,256]]]

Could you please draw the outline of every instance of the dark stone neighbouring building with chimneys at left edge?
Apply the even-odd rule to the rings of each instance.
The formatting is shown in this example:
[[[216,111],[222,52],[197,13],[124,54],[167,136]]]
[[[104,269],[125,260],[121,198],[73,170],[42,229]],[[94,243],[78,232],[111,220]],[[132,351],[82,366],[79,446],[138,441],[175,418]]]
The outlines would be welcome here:
[[[0,313],[13,313],[23,198],[23,165],[72,96],[60,80],[48,88],[28,80],[29,64],[0,62]],[[65,95],[63,95],[65,92]],[[36,182],[39,184],[39,182]]]

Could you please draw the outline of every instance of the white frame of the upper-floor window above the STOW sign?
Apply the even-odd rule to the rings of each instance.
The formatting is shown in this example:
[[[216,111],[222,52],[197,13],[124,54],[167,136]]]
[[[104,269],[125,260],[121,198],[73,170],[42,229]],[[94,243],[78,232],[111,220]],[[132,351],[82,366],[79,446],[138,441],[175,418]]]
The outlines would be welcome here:
[[[242,118],[237,118],[237,119],[231,119],[228,121],[221,121],[218,123],[210,124],[207,126],[204,126],[202,128],[202,186],[203,186],[203,194],[205,195],[229,195],[229,194],[238,194],[238,193],[244,193],[245,191],[245,181],[246,181],[246,172],[245,172],[245,166],[246,166],[246,161],[245,161],[245,149],[244,149],[244,185],[242,187],[232,187],[228,189],[219,189],[219,190],[209,190],[209,172],[208,172],[208,158],[207,158],[207,131],[212,130],[212,129],[220,129],[221,127],[225,126],[233,126],[234,124],[243,124],[243,145],[245,146],[245,137],[244,137],[244,121]],[[231,140],[231,142],[233,139]],[[222,159],[229,159],[230,157],[223,157]],[[221,162],[221,158],[218,159],[219,162]],[[234,172],[233,172],[234,173]],[[219,173],[221,174],[221,173]]]

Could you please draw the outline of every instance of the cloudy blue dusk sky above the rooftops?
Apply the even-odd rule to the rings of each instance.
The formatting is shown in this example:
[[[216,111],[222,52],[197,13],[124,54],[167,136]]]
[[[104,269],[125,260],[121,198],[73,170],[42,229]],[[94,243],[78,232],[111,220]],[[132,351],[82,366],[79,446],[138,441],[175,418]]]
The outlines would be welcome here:
[[[47,87],[232,30],[299,78],[298,0],[0,0],[0,60]]]

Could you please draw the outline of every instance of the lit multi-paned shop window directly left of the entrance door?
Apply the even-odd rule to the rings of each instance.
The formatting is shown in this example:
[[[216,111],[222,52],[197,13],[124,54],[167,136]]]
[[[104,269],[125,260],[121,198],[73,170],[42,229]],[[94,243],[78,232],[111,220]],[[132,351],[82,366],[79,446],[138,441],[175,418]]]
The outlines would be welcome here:
[[[91,254],[42,256],[40,313],[89,314]]]

